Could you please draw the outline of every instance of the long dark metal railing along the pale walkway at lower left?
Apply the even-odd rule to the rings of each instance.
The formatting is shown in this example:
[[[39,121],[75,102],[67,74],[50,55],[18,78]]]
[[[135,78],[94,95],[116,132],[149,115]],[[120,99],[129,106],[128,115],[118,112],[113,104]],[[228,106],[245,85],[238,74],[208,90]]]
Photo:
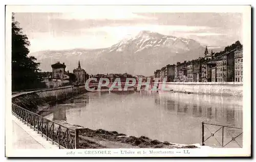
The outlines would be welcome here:
[[[37,133],[41,133],[42,137],[45,136],[46,140],[50,140],[52,144],[58,145],[59,149],[79,148],[78,132],[83,128],[67,128],[13,103],[12,114],[30,126],[30,128],[33,128],[34,131],[37,130]]]

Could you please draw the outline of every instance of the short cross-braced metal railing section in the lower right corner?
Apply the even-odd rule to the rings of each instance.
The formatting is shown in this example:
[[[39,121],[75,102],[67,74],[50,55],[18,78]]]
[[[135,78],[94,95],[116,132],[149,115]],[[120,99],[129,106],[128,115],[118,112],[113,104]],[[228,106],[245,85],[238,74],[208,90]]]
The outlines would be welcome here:
[[[212,133],[211,130],[210,130],[208,127],[206,127],[206,125],[218,126],[219,129],[217,129],[214,133]],[[210,132],[210,135],[206,138],[206,140],[204,140],[204,138],[205,138],[205,131],[204,131],[204,128],[206,128],[206,129]],[[222,132],[222,138],[221,138],[222,141],[221,141],[221,143],[218,141],[218,139],[217,139],[216,137],[215,137],[215,139],[216,139],[216,141],[218,142],[218,144],[219,144],[222,148],[224,148],[225,146],[227,146],[228,144],[230,144],[232,141],[236,142],[237,145],[242,148],[242,146],[236,141],[236,139],[237,139],[240,135],[242,135],[243,132],[242,132],[242,133],[239,133],[238,135],[236,135],[236,136],[234,136],[234,137],[231,136],[231,134],[229,133],[229,135],[231,136],[231,140],[229,140],[228,142],[224,143],[224,130],[225,130],[224,128],[232,128],[232,129],[237,129],[237,130],[243,130],[242,128],[237,128],[237,127],[230,127],[230,126],[224,126],[224,125],[218,125],[218,124],[209,124],[209,123],[204,123],[204,122],[202,122],[202,146],[205,145],[205,142],[206,142],[207,140],[209,140],[210,137],[215,137],[215,134],[221,130],[221,132]]]

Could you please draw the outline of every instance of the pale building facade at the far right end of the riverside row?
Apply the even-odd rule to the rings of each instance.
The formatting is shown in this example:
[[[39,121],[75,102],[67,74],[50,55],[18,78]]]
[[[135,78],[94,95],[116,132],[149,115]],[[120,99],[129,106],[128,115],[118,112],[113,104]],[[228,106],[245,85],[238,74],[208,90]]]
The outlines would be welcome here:
[[[234,81],[243,82],[243,50],[234,52]]]

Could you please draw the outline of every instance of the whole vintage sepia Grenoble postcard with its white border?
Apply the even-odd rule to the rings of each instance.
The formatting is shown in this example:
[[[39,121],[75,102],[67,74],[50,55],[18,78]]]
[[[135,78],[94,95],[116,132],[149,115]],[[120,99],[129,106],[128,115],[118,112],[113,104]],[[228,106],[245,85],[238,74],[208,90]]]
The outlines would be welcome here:
[[[6,6],[6,156],[251,156],[250,31],[251,6]]]

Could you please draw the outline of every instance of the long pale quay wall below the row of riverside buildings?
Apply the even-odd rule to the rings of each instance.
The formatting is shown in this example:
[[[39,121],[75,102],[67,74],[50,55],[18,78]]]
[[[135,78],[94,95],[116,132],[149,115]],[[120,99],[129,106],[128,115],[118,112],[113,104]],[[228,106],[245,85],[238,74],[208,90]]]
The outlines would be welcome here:
[[[159,83],[159,88],[162,88],[162,86],[163,83]],[[167,82],[164,87],[176,92],[243,96],[243,83],[239,82]]]

